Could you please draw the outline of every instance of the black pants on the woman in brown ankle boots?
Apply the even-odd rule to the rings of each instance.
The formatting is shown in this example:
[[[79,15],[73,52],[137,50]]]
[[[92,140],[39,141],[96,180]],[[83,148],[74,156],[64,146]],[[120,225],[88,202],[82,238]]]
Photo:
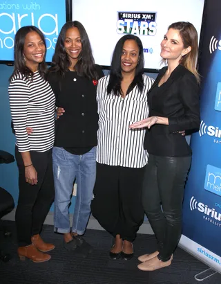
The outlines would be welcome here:
[[[37,171],[38,183],[26,182],[21,153],[15,148],[19,168],[19,200],[15,214],[19,247],[31,244],[31,237],[40,233],[46,215],[55,197],[52,172],[52,150],[30,151],[32,164]]]

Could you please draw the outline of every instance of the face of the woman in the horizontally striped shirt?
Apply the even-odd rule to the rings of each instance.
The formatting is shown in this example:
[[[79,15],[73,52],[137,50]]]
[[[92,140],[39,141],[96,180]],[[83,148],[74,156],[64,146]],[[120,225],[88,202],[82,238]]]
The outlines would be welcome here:
[[[37,71],[39,63],[44,60],[46,54],[46,46],[40,35],[35,31],[31,31],[26,35],[23,45],[23,57],[32,71]]]

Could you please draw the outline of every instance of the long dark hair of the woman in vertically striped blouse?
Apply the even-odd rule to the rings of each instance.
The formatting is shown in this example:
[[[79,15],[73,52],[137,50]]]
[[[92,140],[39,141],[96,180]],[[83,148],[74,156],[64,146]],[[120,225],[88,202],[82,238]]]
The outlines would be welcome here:
[[[122,49],[124,46],[124,42],[128,39],[133,39],[137,43],[139,47],[139,61],[135,69],[135,77],[131,85],[128,87],[128,92],[133,89],[137,85],[139,91],[142,91],[144,88],[144,51],[143,44],[139,37],[135,35],[124,35],[121,37],[115,46],[115,50],[113,51],[113,57],[111,61],[111,71],[110,71],[110,80],[108,82],[107,93],[119,96],[122,94],[121,82],[122,82],[122,69],[121,69],[121,57],[122,57]]]

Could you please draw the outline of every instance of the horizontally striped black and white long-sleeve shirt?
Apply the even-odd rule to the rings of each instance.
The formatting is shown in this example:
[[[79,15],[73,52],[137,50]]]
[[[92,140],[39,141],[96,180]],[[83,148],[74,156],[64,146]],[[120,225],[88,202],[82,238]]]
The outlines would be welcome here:
[[[55,95],[39,71],[33,78],[15,75],[8,87],[12,122],[19,152],[45,152],[55,139]],[[28,135],[26,127],[32,127]]]

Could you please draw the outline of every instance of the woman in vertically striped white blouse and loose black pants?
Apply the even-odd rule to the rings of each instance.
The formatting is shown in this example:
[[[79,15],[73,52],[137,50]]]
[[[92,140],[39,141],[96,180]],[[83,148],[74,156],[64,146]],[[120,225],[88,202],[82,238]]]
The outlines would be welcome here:
[[[112,259],[133,257],[133,240],[144,219],[145,130],[129,130],[129,125],[148,116],[146,94],[152,84],[144,75],[142,42],[135,35],[124,35],[115,46],[110,75],[97,85],[97,177],[91,208],[115,238]]]

